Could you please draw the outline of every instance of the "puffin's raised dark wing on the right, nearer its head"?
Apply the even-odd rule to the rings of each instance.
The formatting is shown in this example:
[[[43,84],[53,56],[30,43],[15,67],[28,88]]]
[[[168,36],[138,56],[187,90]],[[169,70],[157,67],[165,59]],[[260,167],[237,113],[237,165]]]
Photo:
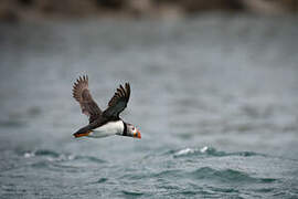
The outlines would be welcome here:
[[[126,108],[127,103],[130,96],[130,85],[129,83],[125,84],[125,87],[120,85],[111,100],[108,103],[107,109],[104,112],[106,117],[118,118],[119,114]]]

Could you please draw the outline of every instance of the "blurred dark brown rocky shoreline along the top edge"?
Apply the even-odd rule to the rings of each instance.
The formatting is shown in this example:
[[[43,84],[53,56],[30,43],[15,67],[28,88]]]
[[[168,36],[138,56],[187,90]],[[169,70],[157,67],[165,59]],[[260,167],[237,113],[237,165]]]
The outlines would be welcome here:
[[[1,0],[0,21],[39,18],[160,18],[206,11],[297,13],[296,0]]]

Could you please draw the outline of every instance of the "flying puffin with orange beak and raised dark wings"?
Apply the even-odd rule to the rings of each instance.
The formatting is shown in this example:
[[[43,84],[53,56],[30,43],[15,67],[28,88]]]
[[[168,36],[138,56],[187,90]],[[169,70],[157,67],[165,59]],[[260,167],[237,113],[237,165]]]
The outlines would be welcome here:
[[[130,85],[119,85],[102,112],[88,90],[88,76],[79,76],[73,85],[73,97],[79,103],[82,113],[89,117],[89,124],[74,133],[74,137],[102,138],[111,135],[141,138],[140,132],[131,124],[124,122],[119,114],[126,108],[130,96]]]

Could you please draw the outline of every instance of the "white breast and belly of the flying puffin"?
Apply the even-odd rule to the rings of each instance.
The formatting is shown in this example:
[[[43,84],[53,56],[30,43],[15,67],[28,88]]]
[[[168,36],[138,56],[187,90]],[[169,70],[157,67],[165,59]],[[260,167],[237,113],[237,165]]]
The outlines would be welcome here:
[[[123,134],[124,132],[124,122],[117,121],[117,122],[109,122],[96,129],[93,130],[93,133],[89,134],[89,137],[107,137],[113,136],[116,134]]]

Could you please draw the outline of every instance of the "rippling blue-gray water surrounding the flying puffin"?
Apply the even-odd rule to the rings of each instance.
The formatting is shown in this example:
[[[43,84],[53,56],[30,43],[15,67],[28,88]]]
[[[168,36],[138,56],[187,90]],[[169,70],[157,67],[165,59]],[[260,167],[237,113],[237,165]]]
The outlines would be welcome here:
[[[0,198],[297,198],[297,18],[0,24]],[[142,139],[74,139],[89,75]]]

